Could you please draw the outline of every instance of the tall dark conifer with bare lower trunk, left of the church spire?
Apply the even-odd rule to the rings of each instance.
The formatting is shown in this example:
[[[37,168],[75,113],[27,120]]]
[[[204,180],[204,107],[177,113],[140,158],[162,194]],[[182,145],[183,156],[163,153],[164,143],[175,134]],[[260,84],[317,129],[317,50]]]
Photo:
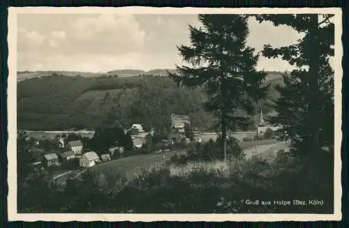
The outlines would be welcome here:
[[[218,116],[225,159],[227,131],[246,126],[246,114],[253,112],[255,101],[267,91],[267,86],[261,86],[266,73],[255,70],[259,55],[246,45],[247,19],[245,15],[198,15],[202,26],[189,26],[191,45],[178,47],[193,67],[177,66],[178,73],[169,73],[179,85],[205,88],[205,107]]]

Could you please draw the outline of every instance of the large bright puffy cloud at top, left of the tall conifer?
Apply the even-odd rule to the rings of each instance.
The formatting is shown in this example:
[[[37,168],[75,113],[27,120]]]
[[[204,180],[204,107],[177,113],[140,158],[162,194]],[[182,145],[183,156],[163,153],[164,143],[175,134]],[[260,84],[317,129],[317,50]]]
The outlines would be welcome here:
[[[68,36],[70,43],[74,43],[69,50],[74,52],[120,54],[141,48],[145,31],[133,15],[103,14],[73,22]]]

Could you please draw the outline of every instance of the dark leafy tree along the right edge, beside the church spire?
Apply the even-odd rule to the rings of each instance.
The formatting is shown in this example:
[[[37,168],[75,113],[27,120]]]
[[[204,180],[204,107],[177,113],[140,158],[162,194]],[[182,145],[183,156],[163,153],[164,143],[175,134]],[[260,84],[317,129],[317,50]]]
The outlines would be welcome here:
[[[294,45],[272,48],[265,45],[263,55],[281,56],[297,70],[283,75],[278,86],[281,98],[276,102],[277,116],[272,123],[283,126],[283,135],[292,140],[292,149],[304,159],[314,159],[319,151],[334,146],[334,72],[329,56],[334,56],[333,15],[257,15],[275,26],[285,24],[305,33]],[[308,160],[309,161],[309,160]]]

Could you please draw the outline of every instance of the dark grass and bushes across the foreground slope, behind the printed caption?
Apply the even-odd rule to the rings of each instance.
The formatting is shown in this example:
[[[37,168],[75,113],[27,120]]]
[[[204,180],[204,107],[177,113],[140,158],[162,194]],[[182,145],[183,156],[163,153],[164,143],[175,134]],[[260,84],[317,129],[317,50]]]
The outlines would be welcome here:
[[[333,195],[324,188],[331,181],[311,179],[281,152],[272,162],[188,162],[140,170],[128,178],[91,172],[68,181],[64,190],[47,188],[36,178],[30,187],[24,186],[18,202],[23,213],[332,213]],[[247,205],[247,199],[258,199],[260,205]],[[293,199],[323,199],[325,204],[261,204]]]

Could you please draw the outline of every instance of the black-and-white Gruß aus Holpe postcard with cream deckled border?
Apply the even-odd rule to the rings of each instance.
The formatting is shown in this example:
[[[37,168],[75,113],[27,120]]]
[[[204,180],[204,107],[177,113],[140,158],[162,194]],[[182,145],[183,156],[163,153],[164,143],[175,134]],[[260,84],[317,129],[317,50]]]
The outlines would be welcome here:
[[[9,8],[9,220],[341,220],[341,22]]]

